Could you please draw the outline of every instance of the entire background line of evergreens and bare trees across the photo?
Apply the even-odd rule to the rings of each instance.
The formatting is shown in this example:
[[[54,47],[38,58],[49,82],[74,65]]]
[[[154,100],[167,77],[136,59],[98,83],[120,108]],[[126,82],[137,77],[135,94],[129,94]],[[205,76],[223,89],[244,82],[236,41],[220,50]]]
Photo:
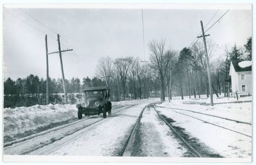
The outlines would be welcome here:
[[[216,43],[207,44],[212,91],[217,97],[221,93],[227,96],[228,91],[231,91],[230,83],[228,86],[230,62],[252,60],[252,37],[248,38],[243,47],[237,47],[236,44],[225,47],[223,58],[214,60],[211,58],[216,56],[214,54]],[[148,61],[132,56],[100,58],[96,77],[92,79],[84,77],[82,80],[73,77],[70,81],[65,80],[67,93],[81,93],[81,89],[89,86],[108,86],[111,101],[148,97],[161,97],[162,100],[168,97],[172,100],[172,96],[180,96],[183,99],[184,95],[188,95],[189,98],[200,98],[200,95],[204,94],[209,97],[207,65],[202,41],[198,40],[193,47],[184,47],[180,51],[166,49],[163,40],[150,41],[148,47],[150,50]],[[61,79],[50,79],[49,84],[50,93],[63,93]],[[45,94],[40,93],[46,93],[45,79],[39,79],[33,74],[15,81],[8,78],[4,81],[4,107],[44,104]],[[27,97],[28,94],[33,97]],[[50,101],[63,103],[61,101],[63,97],[57,98],[51,94]],[[79,99],[76,96],[74,98]],[[72,103],[70,99],[69,103]]]

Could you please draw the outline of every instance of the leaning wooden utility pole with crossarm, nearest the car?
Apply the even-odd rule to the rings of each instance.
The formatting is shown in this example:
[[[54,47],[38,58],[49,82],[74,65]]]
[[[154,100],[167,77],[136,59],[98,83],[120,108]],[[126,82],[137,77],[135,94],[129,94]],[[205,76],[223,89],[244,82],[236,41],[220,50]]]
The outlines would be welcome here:
[[[63,64],[62,64],[61,52],[73,51],[73,49],[66,49],[66,50],[62,50],[62,51],[61,51],[61,47],[60,47],[60,35],[58,34],[57,37],[58,37],[58,51],[50,52],[50,53],[48,53],[48,54],[58,53],[58,54],[60,55],[60,67],[61,67],[61,74],[62,74],[63,90],[64,90],[64,95],[65,95],[65,104],[68,104],[67,91],[66,91],[66,83],[65,83],[65,76],[64,76],[64,71],[63,71]]]

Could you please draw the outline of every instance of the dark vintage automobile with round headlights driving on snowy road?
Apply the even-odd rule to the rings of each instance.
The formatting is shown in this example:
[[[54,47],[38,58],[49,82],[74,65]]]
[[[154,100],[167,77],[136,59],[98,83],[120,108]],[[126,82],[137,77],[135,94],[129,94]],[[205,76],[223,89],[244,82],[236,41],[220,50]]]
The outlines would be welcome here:
[[[95,86],[83,90],[84,102],[77,104],[77,116],[81,119],[84,115],[103,114],[106,118],[111,114],[111,102],[109,101],[109,88],[106,86]]]

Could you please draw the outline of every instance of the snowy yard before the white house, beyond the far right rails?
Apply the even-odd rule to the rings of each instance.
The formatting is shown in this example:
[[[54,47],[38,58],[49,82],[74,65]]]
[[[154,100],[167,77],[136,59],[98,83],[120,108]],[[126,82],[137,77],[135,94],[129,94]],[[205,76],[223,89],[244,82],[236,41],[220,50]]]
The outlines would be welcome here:
[[[252,101],[252,96],[241,97],[241,100],[242,99],[243,101]],[[226,103],[227,100],[230,103]],[[190,111],[212,114],[241,122],[252,123],[252,102],[232,103],[234,101],[236,101],[236,98],[214,97],[213,107],[206,106],[205,104],[197,104],[210,102],[210,99],[203,95],[202,98],[189,99],[189,97],[184,97],[184,100],[181,100],[180,97],[175,97],[170,103],[168,100],[166,100],[163,102],[163,104],[159,104],[157,106],[187,109]]]

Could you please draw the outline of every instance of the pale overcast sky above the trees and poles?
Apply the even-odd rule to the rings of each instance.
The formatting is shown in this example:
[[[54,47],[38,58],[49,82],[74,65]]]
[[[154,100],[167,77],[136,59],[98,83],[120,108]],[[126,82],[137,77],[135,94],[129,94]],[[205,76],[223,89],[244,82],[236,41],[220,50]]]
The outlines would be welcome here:
[[[146,60],[150,56],[149,41],[166,40],[166,49],[179,52],[200,33],[200,20],[205,25],[218,11],[207,29],[227,9],[143,9]],[[144,58],[140,9],[5,8],[4,11],[4,78],[34,74],[45,79],[45,34],[49,52],[58,51],[56,33],[61,36],[61,49],[74,49],[63,53],[66,79],[95,76],[100,57]],[[211,40],[216,45],[213,58],[222,58],[225,45],[231,47],[236,43],[242,47],[252,36],[252,10],[230,10],[207,34],[210,34],[207,42]],[[61,77],[58,54],[49,55],[49,75]]]

